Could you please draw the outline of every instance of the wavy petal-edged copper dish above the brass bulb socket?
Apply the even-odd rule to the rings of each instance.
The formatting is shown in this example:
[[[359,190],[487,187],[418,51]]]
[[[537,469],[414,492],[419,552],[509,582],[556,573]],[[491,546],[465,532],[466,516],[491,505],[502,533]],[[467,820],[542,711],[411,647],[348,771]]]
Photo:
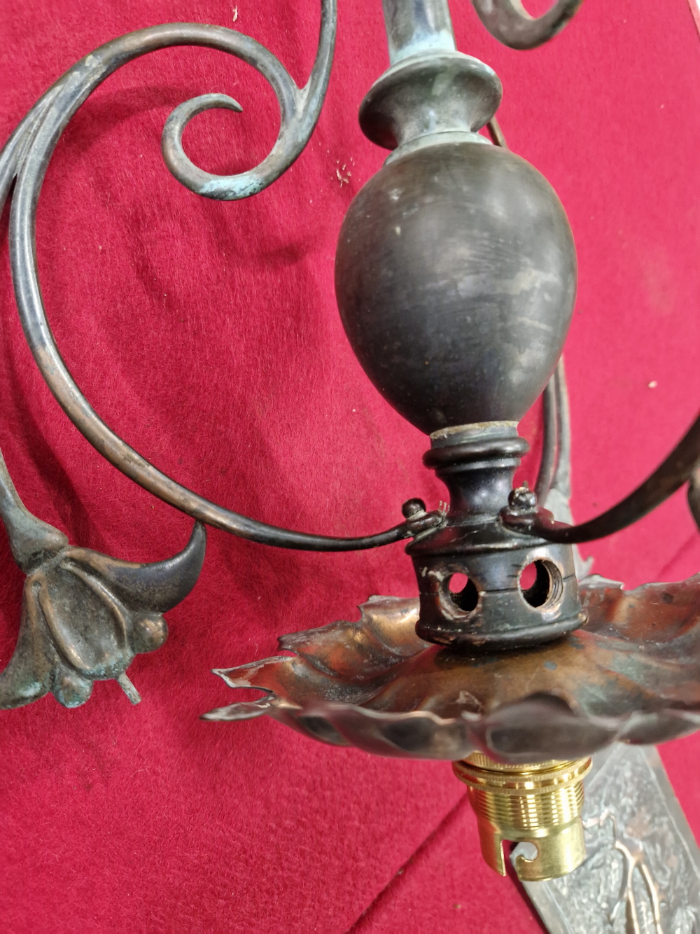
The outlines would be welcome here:
[[[415,635],[418,603],[371,598],[355,623],[280,639],[292,657],[218,670],[260,701],[205,715],[270,715],[306,735],[384,756],[502,761],[660,743],[700,726],[700,575],[636,590],[581,585],[584,630],[529,650],[457,653]]]

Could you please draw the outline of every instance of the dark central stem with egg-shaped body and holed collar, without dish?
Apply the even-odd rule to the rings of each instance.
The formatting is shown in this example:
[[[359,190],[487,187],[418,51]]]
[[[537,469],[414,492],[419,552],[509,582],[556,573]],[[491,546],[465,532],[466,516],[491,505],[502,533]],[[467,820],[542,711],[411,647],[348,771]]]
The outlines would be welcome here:
[[[444,48],[444,9],[436,10],[440,28],[426,50],[425,29],[417,38],[399,29],[397,7],[385,7],[392,64],[359,117],[365,134],[394,151],[345,216],[336,295],[357,358],[385,399],[430,434],[424,461],[450,490],[443,528],[407,548],[421,595],[418,635],[508,647],[557,638],[584,619],[570,547],[511,530],[499,515],[528,450],[517,423],[567,334],[576,255],[550,185],[476,132],[493,119],[500,83]],[[543,470],[540,488],[553,460]],[[530,522],[536,505],[533,497],[525,509]],[[530,565],[536,581],[522,587]],[[469,578],[456,593],[455,574]]]

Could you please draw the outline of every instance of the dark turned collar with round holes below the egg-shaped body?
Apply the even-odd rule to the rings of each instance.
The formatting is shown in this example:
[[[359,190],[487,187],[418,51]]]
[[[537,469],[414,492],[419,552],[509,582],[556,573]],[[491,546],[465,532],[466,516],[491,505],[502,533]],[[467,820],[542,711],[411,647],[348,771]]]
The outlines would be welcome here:
[[[406,549],[420,591],[418,635],[465,647],[511,647],[556,639],[585,620],[574,557],[567,545],[513,534],[498,521],[505,501],[525,515],[536,508],[530,490],[512,490],[518,455],[528,449],[515,428],[492,424],[433,438],[424,460],[450,490],[445,525]],[[536,573],[523,587],[526,569]],[[452,578],[469,582],[454,592]]]

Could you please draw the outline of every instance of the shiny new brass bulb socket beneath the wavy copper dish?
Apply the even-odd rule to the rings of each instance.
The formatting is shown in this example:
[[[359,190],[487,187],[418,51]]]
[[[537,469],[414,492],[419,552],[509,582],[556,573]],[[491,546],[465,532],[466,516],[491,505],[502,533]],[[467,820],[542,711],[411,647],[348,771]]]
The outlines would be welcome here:
[[[504,840],[533,845],[532,858],[519,855],[515,861],[515,871],[527,882],[555,879],[581,866],[586,857],[583,778],[590,758],[501,765],[474,753],[452,767],[469,789],[482,856],[491,869],[506,874]]]

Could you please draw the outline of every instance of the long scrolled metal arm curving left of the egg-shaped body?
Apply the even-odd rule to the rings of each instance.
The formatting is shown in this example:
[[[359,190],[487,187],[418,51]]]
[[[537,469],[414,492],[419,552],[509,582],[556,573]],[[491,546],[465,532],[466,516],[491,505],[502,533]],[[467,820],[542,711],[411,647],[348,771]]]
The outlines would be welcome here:
[[[392,529],[359,538],[336,538],[278,529],[232,512],[176,483],[122,441],[92,409],[63,362],[51,333],[35,258],[35,215],[49,160],[77,108],[109,75],[147,52],[173,46],[204,46],[251,64],[277,95],[280,132],[270,154],[255,169],[212,176],[182,150],[182,132],[197,113],[215,106],[241,109],[223,94],[206,94],[175,108],[165,124],[162,149],[168,167],[184,185],[207,197],[235,200],[262,191],[300,155],[312,133],[328,87],[335,40],[335,0],[322,0],[314,69],[299,89],[271,52],[254,39],[222,26],[172,23],[120,36],[91,52],[60,78],[32,108],[0,155],[0,209],[17,179],[10,214],[10,259],[21,324],[49,389],[78,431],[119,471],[164,502],[215,528],[265,545],[312,551],[354,551],[388,545],[427,531],[439,514],[407,518]]]

